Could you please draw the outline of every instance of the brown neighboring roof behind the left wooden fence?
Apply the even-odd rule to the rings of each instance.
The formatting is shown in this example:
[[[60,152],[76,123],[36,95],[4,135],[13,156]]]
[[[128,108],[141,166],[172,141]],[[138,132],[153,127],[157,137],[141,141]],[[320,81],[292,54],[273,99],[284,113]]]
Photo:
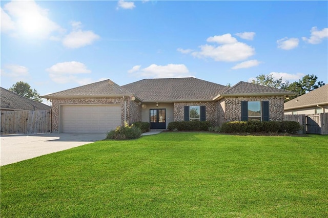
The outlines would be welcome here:
[[[51,107],[40,103],[38,101],[33,101],[24,96],[18,95],[16,93],[10,92],[1,87],[0,92],[0,107],[3,110],[24,110],[24,111],[43,111],[49,110]]]

